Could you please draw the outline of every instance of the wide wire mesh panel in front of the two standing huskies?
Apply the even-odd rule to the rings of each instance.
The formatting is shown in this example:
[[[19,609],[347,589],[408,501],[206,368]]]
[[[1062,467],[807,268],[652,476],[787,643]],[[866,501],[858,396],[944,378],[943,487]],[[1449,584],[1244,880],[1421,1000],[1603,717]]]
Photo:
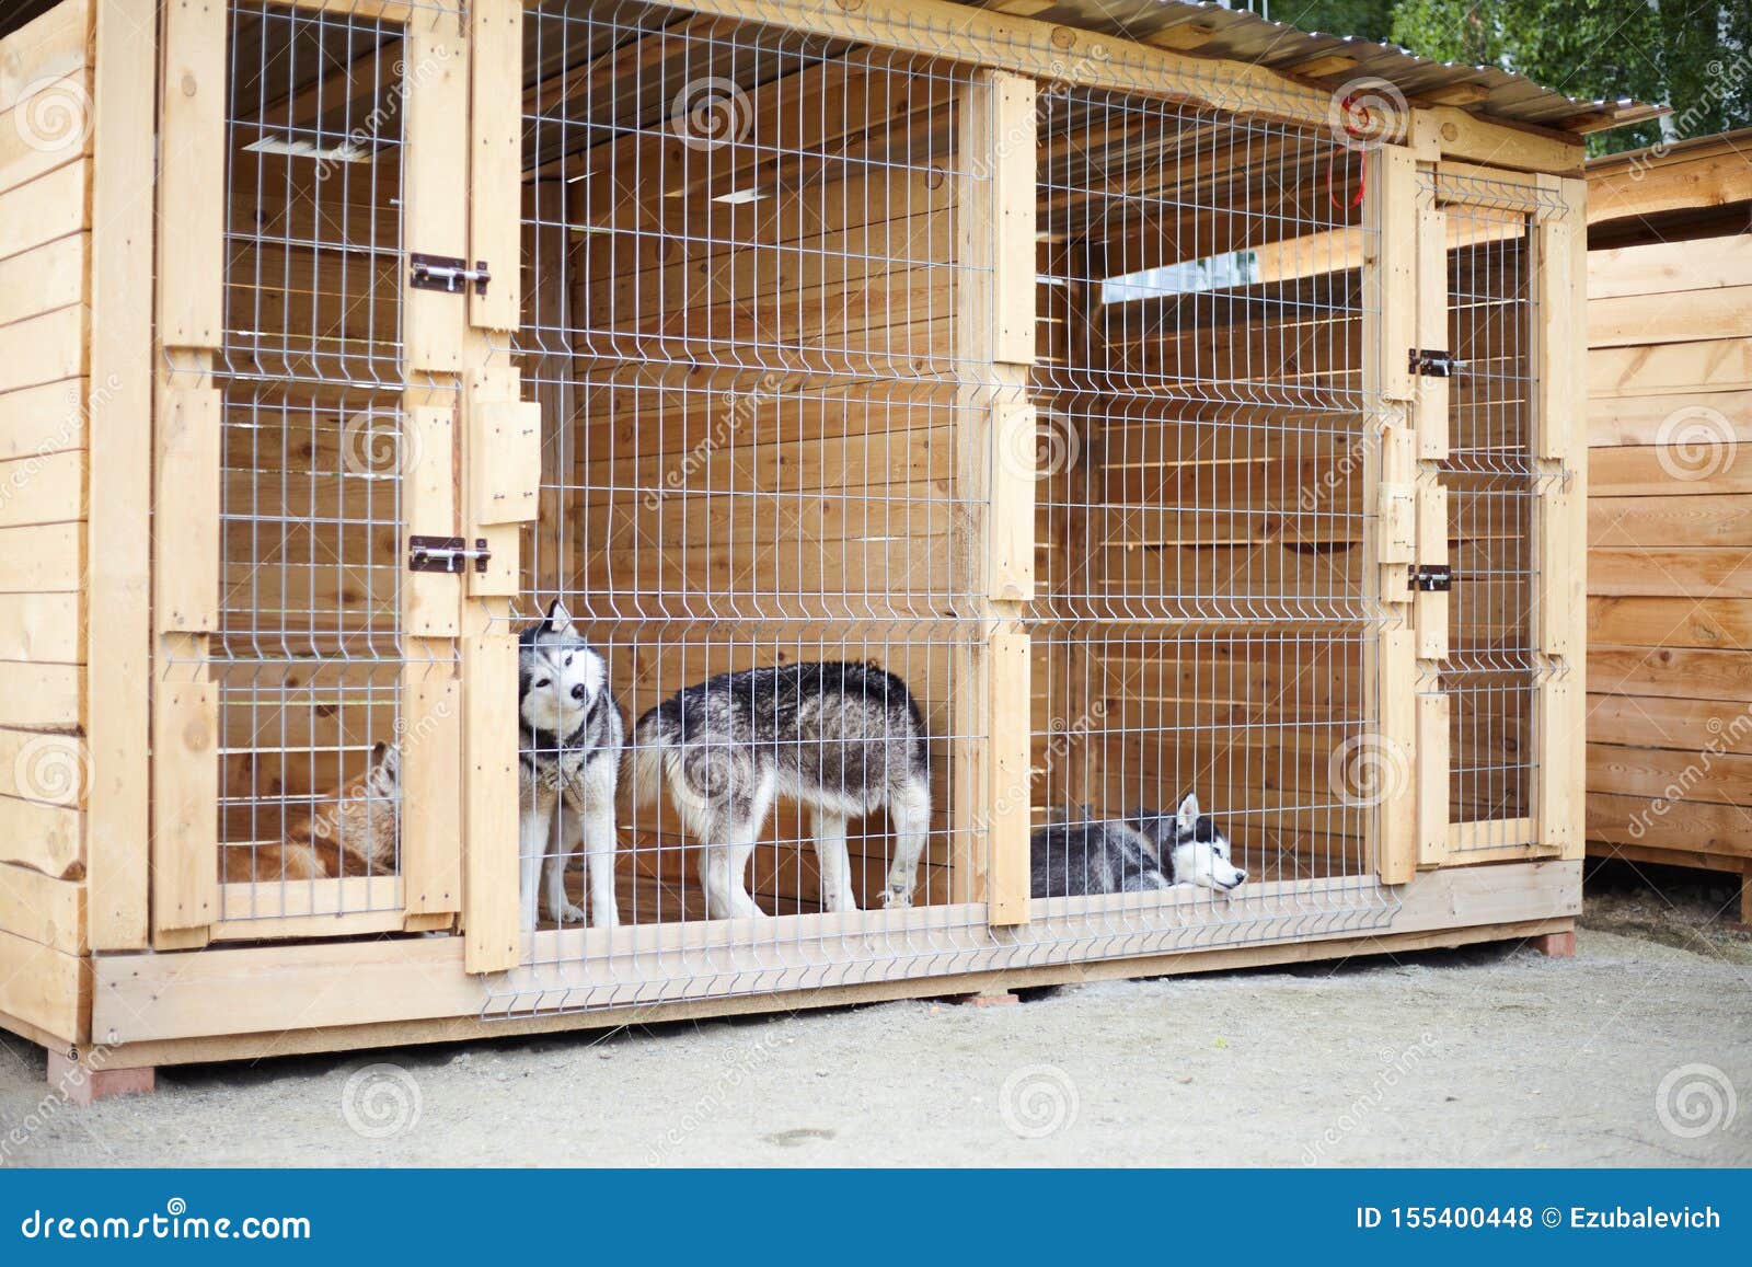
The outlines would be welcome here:
[[[522,895],[561,936],[496,1006],[948,971],[985,924],[957,296],[992,265],[957,226],[986,93],[641,4],[531,5],[524,58]]]

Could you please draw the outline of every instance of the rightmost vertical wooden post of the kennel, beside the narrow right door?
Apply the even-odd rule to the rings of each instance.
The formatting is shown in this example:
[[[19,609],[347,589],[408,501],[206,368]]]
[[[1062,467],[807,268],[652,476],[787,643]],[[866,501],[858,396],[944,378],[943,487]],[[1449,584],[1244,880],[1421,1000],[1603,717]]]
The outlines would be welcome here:
[[[1533,224],[1535,454],[1545,482],[1535,522],[1538,650],[1547,669],[1533,701],[1535,839],[1542,852],[1586,850],[1587,647],[1587,184],[1542,177],[1561,207]]]

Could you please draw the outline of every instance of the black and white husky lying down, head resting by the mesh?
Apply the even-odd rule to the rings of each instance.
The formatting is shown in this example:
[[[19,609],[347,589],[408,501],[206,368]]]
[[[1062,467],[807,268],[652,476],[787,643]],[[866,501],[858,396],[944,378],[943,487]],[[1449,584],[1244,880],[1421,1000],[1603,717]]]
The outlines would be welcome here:
[[[1039,827],[1030,846],[1034,897],[1141,894],[1172,885],[1228,892],[1247,880],[1230,864],[1228,838],[1198,797],[1188,796],[1172,815],[1134,810],[1121,822],[1100,818]]]

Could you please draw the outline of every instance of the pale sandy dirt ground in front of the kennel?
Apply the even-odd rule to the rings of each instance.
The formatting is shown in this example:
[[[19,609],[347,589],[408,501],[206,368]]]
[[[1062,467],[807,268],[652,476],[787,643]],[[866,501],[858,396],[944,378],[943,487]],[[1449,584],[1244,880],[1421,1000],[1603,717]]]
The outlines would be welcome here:
[[[1593,885],[1575,959],[1489,946],[256,1065],[46,1102],[12,1165],[1747,1165],[1752,939]],[[56,1097],[49,1097],[54,1101]]]

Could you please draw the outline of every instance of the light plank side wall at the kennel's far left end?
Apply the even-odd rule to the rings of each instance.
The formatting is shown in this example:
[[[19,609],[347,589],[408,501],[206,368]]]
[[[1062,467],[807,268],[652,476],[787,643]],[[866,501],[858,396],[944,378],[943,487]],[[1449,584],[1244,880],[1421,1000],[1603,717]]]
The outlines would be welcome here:
[[[93,9],[0,40],[0,1013],[81,1037]]]

